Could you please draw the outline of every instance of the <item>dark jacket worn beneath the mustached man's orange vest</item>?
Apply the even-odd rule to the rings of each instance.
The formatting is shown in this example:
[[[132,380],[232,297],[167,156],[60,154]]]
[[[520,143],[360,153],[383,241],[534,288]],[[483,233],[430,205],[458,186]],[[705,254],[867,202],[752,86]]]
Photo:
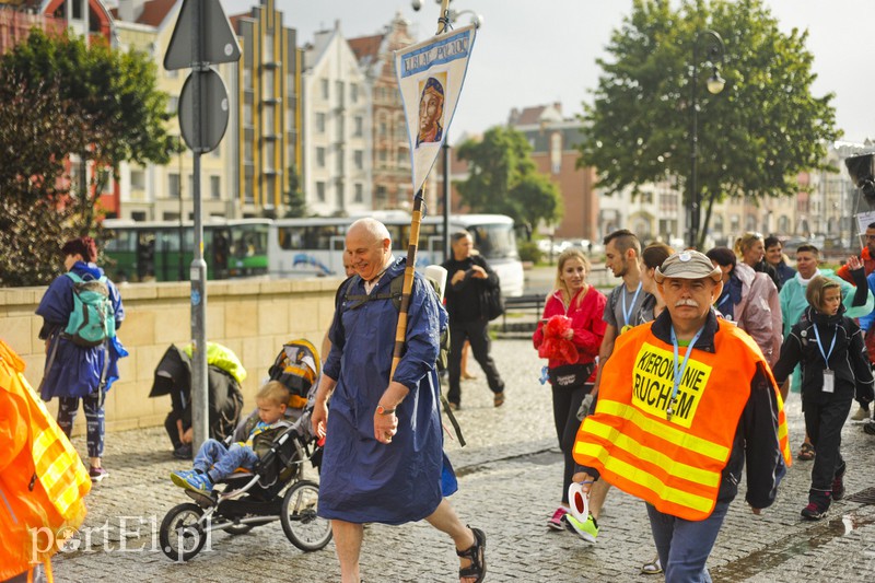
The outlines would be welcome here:
[[[651,328],[660,340],[672,343],[672,315],[668,310],[653,322]],[[718,331],[716,315],[711,310],[696,350],[714,352],[714,335]],[[716,373],[716,371],[715,371]],[[732,363],[721,374],[733,374]],[[747,463],[747,503],[756,509],[768,508],[778,494],[778,483],[786,473],[781,445],[778,441],[778,392],[772,384],[766,364],[760,362],[754,376],[739,382],[750,383],[750,396],[738,420],[733,438],[732,453],[721,474],[718,502],[730,502],[738,493],[742,470]],[[594,468],[580,468],[597,476]]]

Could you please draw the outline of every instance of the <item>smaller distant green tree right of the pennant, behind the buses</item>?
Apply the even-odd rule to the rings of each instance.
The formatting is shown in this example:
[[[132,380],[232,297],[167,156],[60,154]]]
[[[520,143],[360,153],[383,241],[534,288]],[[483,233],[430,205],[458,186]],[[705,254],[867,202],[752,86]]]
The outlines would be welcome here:
[[[540,221],[555,223],[562,218],[559,190],[537,172],[522,132],[497,126],[482,141],[459,145],[457,155],[468,161],[469,177],[456,186],[471,211],[506,214],[529,233]]]

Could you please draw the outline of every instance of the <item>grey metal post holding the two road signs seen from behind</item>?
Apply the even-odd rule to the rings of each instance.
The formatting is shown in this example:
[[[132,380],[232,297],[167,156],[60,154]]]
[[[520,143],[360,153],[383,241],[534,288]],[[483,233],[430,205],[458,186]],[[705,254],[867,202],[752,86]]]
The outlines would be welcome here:
[[[195,66],[192,67],[195,110],[191,129],[195,136],[203,131],[201,119],[201,80],[207,65],[203,63],[201,46],[201,22],[203,8],[196,4],[192,22],[191,45]],[[200,149],[192,149],[194,168],[191,175],[191,199],[195,207],[195,248],[189,276],[191,278],[191,427],[195,432],[192,448],[197,451],[209,438],[209,393],[207,392],[207,263],[203,260],[203,223],[200,208]],[[179,177],[182,180],[182,176]]]

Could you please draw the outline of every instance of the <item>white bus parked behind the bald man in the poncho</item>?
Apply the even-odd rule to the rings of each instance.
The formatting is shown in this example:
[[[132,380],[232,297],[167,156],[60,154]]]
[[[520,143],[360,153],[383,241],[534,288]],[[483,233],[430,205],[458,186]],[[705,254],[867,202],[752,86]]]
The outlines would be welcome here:
[[[410,214],[374,211],[368,214],[386,225],[396,256],[406,255],[410,240]],[[268,237],[271,277],[342,276],[347,229],[355,218],[278,219]],[[523,294],[523,264],[516,249],[513,219],[503,214],[454,214],[450,232],[466,230],[474,248],[486,258],[501,280],[502,294]],[[444,261],[443,218],[425,217],[419,230],[417,269]]]

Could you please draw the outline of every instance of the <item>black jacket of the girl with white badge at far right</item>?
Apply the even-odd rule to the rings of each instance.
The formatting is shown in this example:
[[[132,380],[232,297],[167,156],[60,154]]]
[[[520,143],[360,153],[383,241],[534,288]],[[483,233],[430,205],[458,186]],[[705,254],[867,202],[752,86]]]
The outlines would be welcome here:
[[[836,375],[832,394],[822,390],[827,363],[818,348],[815,326],[824,353],[829,354],[829,369]],[[833,338],[836,346],[830,352]],[[843,304],[839,304],[839,313],[835,316],[821,314],[812,307],[803,312],[802,318],[793,325],[781,348],[781,358],[773,369],[775,380],[783,383],[800,363],[803,401],[824,404],[831,398],[851,399],[854,396],[861,403],[872,401],[872,368],[866,355],[863,333],[854,320],[844,316]]]

